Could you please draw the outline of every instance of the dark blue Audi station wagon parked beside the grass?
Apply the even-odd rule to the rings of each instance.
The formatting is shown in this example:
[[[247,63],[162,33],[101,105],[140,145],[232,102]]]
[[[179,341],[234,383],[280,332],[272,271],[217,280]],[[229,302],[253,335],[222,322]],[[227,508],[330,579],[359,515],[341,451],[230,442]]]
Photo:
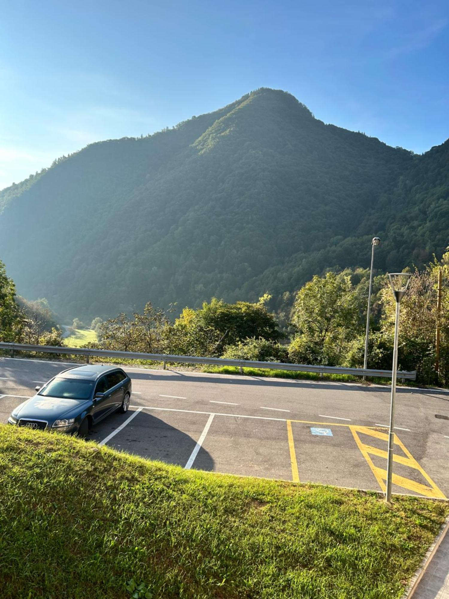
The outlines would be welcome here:
[[[35,390],[11,412],[10,424],[86,437],[89,428],[116,410],[128,412],[131,379],[122,368],[85,365],[69,368]]]

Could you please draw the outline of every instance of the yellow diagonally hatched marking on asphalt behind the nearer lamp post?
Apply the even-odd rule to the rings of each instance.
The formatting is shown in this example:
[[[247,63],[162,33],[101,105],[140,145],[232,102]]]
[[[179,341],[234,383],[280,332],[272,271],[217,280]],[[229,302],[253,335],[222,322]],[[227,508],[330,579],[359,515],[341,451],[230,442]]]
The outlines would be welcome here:
[[[386,433],[368,428],[368,426],[350,425],[349,428],[351,429],[354,440],[357,443],[357,447],[359,447],[360,452],[362,453],[363,457],[366,459],[366,462],[368,463],[369,467],[371,468],[372,473],[374,474],[377,482],[379,483],[380,488],[382,489],[382,491],[386,491],[386,486],[385,486],[384,480],[387,480],[387,471],[384,470],[383,468],[378,468],[377,466],[375,466],[372,462],[370,454],[376,455],[380,458],[388,459],[388,452],[384,451],[382,449],[378,449],[378,447],[372,447],[371,445],[366,445],[365,443],[363,443],[360,440],[359,434],[369,435],[371,437],[375,437],[375,438],[381,439],[386,442],[388,442],[388,435]],[[393,462],[398,462],[399,464],[402,464],[409,468],[414,468],[414,470],[418,470],[418,472],[424,477],[424,479],[427,480],[427,482],[429,483],[430,486],[422,485],[421,483],[417,483],[412,479],[408,479],[404,476],[399,476],[398,474],[394,474],[394,473],[393,473],[393,477],[392,477],[393,484],[401,486],[404,489],[408,489],[409,491],[414,491],[414,492],[416,492],[420,495],[424,495],[426,497],[445,499],[446,498],[445,495],[440,491],[438,486],[435,485],[433,480],[430,478],[429,474],[427,474],[426,471],[424,471],[423,468],[421,468],[421,466],[418,464],[418,462],[415,460],[415,458],[411,455],[409,450],[406,449],[404,443],[402,443],[402,441],[399,440],[399,438],[396,434],[394,435],[394,443],[396,445],[398,445],[399,447],[401,447],[402,451],[406,455],[406,458],[404,458],[404,456],[401,456],[401,455],[393,454]]]

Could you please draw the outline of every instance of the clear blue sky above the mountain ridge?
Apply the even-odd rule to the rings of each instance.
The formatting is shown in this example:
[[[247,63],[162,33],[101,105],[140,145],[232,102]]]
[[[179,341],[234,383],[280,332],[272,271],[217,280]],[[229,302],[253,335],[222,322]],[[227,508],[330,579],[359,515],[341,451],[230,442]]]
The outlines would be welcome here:
[[[257,87],[421,153],[449,137],[447,0],[3,0],[0,189]]]

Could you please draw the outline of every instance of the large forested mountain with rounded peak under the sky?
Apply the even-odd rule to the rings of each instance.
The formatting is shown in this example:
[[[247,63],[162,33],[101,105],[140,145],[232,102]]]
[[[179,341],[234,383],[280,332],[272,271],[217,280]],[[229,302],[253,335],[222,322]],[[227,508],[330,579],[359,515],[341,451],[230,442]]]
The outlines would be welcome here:
[[[142,138],[91,144],[0,193],[0,258],[64,318],[293,291],[448,245],[449,142],[422,156],[259,89]]]

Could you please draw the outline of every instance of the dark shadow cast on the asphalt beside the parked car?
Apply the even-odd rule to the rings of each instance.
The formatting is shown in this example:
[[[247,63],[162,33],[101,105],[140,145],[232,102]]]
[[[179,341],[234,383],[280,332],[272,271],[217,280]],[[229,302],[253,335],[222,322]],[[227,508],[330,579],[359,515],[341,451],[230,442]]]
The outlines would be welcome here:
[[[109,416],[95,425],[87,438],[99,442],[131,416],[131,410],[127,415],[116,413]],[[200,434],[198,433],[198,437]],[[128,425],[117,432],[107,445],[142,458],[155,459],[184,468],[196,447],[196,439],[142,410]],[[214,460],[203,447],[199,448],[192,468],[214,470]]]

